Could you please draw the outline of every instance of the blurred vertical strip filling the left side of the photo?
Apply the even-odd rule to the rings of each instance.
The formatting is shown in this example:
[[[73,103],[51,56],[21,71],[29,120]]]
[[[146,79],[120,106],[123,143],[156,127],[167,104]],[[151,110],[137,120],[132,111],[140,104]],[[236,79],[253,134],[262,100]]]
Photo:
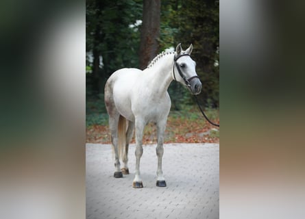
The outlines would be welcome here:
[[[0,3],[0,218],[84,218],[86,3]]]

